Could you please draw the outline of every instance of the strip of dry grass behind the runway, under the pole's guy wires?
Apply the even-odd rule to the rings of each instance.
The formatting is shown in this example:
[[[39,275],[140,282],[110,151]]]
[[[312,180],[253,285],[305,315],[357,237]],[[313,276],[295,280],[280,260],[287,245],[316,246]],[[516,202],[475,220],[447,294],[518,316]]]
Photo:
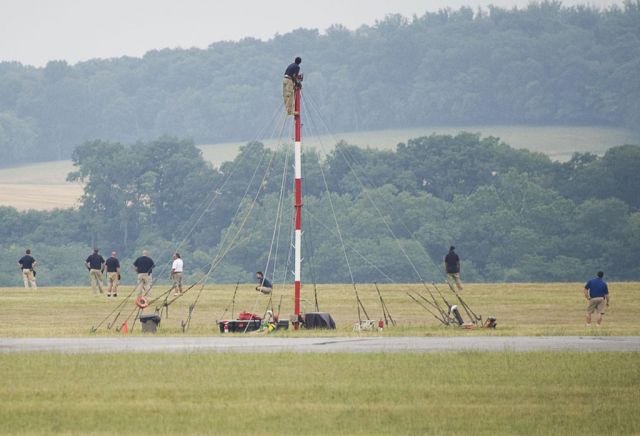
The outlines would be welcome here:
[[[88,281],[88,280],[87,280]],[[337,324],[335,331],[282,331],[281,336],[299,335],[640,335],[640,284],[637,282],[609,283],[611,307],[605,315],[602,328],[594,325],[588,329],[584,321],[586,301],[583,297],[583,283],[499,283],[465,284],[461,293],[464,301],[474,312],[495,316],[498,328],[461,330],[444,327],[424,308],[411,300],[407,293],[430,298],[421,285],[380,285],[384,301],[396,321],[396,327],[379,332],[353,332],[353,324],[358,321],[355,294],[352,285],[317,285],[317,300],[320,311],[329,312]],[[182,335],[182,322],[186,321],[189,306],[194,304],[188,334],[218,335],[217,320],[233,319],[240,311],[263,315],[273,306],[275,313],[289,319],[293,313],[293,289],[291,286],[276,286],[270,303],[268,296],[254,290],[253,284],[238,286],[235,302],[235,285],[207,285],[192,288],[183,297],[169,306],[169,315],[163,313],[158,334]],[[429,290],[439,298],[435,287]],[[438,285],[448,302],[454,304],[456,298],[446,291],[444,284]],[[157,285],[153,295],[159,296],[169,287]],[[379,320],[383,317],[380,299],[371,284],[357,285],[358,294],[368,317]],[[95,335],[118,335],[115,327],[129,317],[128,325],[134,327],[129,334],[142,334],[140,324],[133,326],[137,313],[132,296],[122,306],[132,291],[131,286],[123,286],[117,299],[93,295],[89,286],[74,288],[39,288],[37,291],[23,288],[0,288],[0,337],[56,337],[87,336],[92,327]],[[170,296],[170,299],[173,297]],[[312,285],[303,285],[302,311],[315,310],[316,296]],[[419,298],[419,297],[416,297]],[[153,313],[164,299],[152,304],[144,313]],[[461,310],[468,320],[467,314]],[[119,315],[118,315],[119,314]],[[116,317],[117,316],[117,317]],[[362,318],[366,318],[364,312]],[[111,329],[107,327],[112,325]]]

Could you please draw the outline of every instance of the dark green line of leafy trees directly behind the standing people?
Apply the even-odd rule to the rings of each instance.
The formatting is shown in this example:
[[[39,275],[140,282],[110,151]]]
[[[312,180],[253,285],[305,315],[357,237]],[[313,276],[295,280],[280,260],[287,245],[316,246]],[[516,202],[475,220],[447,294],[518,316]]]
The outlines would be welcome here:
[[[26,248],[44,285],[84,283],[93,247],[118,251],[129,283],[142,249],[157,272],[179,250],[191,279],[214,265],[214,282],[265,270],[289,283],[290,154],[253,142],[213,167],[189,140],[86,142],[69,174],[85,183],[79,209],[0,208],[0,285],[20,284]],[[307,149],[303,165],[306,283],[438,281],[449,245],[467,281],[581,281],[599,269],[640,277],[637,145],[558,163],[461,132],[393,151]]]

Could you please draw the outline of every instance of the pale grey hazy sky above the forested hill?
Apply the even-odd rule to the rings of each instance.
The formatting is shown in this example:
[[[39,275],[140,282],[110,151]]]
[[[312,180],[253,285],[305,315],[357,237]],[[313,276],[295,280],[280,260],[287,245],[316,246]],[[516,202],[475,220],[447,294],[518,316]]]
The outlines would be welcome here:
[[[460,6],[524,7],[529,0],[0,0],[0,61],[43,66],[142,56],[152,49],[205,48],[269,39],[299,27],[356,29],[390,13],[411,17]],[[622,0],[565,0],[607,7]]]

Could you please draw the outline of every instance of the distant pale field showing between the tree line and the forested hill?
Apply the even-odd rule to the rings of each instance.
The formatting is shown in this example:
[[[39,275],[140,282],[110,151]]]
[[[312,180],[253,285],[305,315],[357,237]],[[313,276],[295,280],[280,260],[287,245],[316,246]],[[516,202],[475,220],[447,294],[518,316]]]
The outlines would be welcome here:
[[[345,140],[362,147],[395,149],[399,142],[433,133],[455,135],[460,131],[498,136],[515,148],[526,148],[548,154],[556,160],[567,160],[574,152],[604,153],[621,144],[640,143],[640,134],[626,129],[606,127],[570,126],[457,126],[395,129],[370,132],[347,132],[335,135],[309,136],[304,143],[321,152],[332,149],[337,141]],[[275,140],[264,141],[277,146]],[[214,165],[233,160],[245,142],[201,145],[204,158]],[[66,182],[73,170],[71,161],[57,161],[0,169],[0,206],[13,206],[18,210],[50,210],[56,207],[74,207],[82,195],[82,186]]]

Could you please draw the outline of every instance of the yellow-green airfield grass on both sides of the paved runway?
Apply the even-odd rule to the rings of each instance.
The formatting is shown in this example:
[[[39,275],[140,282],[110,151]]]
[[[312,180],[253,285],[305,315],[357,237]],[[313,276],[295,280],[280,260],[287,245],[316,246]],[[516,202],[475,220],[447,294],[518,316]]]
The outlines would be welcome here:
[[[354,333],[353,290],[318,285],[330,335],[640,335],[639,283],[610,283],[601,329],[584,326],[581,283],[466,284],[463,298],[498,317],[496,330],[442,327],[413,303],[417,285],[381,287],[398,327]],[[159,294],[166,287],[158,286]],[[234,285],[204,289],[190,335],[220,335]],[[119,291],[118,301],[131,288]],[[193,291],[195,291],[194,288]],[[190,291],[190,292],[193,292]],[[87,287],[0,289],[0,336],[91,336],[114,308]],[[279,301],[276,289],[276,301]],[[285,290],[287,295],[291,289]],[[303,287],[306,309],[313,300]],[[372,318],[377,294],[359,286]],[[195,294],[171,306],[159,335],[182,335]],[[238,289],[234,312],[267,297]],[[128,302],[122,317],[133,307]],[[283,298],[282,314],[292,310]],[[120,318],[121,320],[122,318]],[[130,335],[142,335],[139,326]],[[95,335],[117,336],[100,328]],[[229,335],[231,337],[240,335]],[[0,353],[0,434],[638,434],[640,353],[427,354]]]

